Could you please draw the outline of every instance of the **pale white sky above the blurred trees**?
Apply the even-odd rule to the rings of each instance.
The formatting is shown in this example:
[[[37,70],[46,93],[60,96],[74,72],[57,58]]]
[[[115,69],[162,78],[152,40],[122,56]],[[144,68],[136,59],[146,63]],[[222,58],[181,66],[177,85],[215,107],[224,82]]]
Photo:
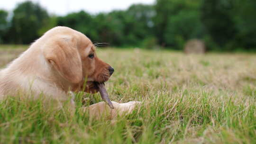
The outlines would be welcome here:
[[[13,10],[18,3],[26,0],[1,0],[0,9]],[[31,0],[38,2],[50,14],[65,15],[84,10],[92,14],[110,12],[114,9],[127,9],[132,4],[153,4],[155,0]]]

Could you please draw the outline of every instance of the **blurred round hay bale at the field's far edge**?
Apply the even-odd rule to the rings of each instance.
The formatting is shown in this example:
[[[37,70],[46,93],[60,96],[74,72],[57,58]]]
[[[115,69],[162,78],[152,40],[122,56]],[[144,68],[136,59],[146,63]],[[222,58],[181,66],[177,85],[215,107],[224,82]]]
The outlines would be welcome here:
[[[205,54],[204,42],[199,39],[189,40],[184,46],[185,54]]]

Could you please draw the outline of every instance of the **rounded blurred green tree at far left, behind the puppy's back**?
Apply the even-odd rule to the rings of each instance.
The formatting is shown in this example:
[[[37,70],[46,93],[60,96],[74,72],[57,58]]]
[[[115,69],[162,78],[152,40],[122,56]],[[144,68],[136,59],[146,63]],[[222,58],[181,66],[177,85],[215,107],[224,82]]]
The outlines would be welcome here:
[[[49,15],[39,4],[31,1],[20,3],[13,11],[11,27],[8,32],[9,42],[29,44],[40,35],[38,30],[48,23]]]

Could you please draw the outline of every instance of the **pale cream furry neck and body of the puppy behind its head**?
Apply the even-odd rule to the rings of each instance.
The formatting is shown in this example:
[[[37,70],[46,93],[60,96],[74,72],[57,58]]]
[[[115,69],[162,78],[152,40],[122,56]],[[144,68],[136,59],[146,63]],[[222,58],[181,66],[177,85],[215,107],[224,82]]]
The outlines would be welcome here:
[[[0,98],[14,95],[18,90],[33,91],[37,96],[44,92],[57,99],[65,99],[68,88],[72,84],[63,78],[47,62],[43,54],[47,41],[54,40],[55,33],[61,34],[64,27],[56,27],[33,43],[27,51],[0,71]]]

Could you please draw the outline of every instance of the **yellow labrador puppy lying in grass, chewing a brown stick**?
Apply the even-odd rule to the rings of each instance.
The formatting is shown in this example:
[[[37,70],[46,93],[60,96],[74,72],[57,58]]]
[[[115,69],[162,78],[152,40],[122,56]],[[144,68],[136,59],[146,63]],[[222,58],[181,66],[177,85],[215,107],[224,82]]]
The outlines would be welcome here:
[[[95,93],[95,83],[109,80],[114,69],[99,59],[91,40],[69,27],[54,27],[47,31],[27,51],[0,71],[0,99],[18,92],[41,93],[58,101],[69,98],[69,91],[83,90]],[[86,79],[86,80],[85,80]],[[91,105],[90,115],[100,116],[104,111],[117,114],[131,112],[137,102],[119,104],[114,109],[105,102]]]

